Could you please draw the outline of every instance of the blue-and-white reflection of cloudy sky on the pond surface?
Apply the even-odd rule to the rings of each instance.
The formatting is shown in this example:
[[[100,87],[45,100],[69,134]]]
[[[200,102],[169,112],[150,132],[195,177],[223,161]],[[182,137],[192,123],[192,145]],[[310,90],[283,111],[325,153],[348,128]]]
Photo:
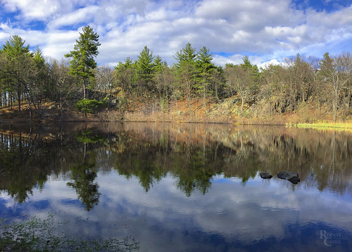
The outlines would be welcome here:
[[[54,212],[67,222],[67,234],[119,237],[132,235],[141,251],[226,251],[320,247],[320,230],[340,232],[341,244],[351,246],[352,197],[318,191],[300,183],[294,191],[289,181],[241,179],[214,176],[206,194],[195,191],[190,197],[178,190],[176,179],[167,175],[145,192],[135,177],[126,179],[118,172],[98,173],[99,205],[84,210],[66,181],[47,181],[42,192],[35,189],[20,212],[10,215],[44,217]],[[1,197],[3,193],[1,193]],[[2,198],[6,215],[15,208],[12,198]],[[7,209],[7,210],[5,210]],[[4,211],[5,210],[5,211]],[[337,230],[337,231],[336,231]],[[293,245],[294,244],[294,245]]]

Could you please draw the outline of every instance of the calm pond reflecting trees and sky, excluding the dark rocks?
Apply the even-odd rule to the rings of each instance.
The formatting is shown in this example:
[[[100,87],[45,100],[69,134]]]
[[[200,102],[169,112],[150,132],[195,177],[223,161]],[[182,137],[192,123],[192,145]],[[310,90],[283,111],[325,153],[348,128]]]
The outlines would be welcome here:
[[[344,131],[0,125],[3,251],[352,251],[351,213]]]

